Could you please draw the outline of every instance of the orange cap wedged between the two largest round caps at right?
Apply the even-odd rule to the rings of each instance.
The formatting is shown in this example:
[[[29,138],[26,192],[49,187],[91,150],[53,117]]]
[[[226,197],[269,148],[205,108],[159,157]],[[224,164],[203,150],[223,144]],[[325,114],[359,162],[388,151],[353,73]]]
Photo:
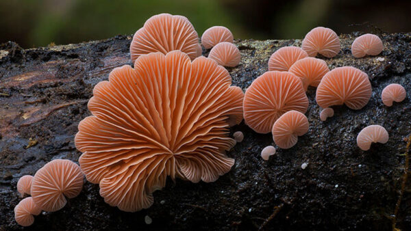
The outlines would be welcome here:
[[[317,87],[329,69],[323,59],[306,57],[292,64],[288,71],[299,77],[303,82],[304,89],[307,90],[309,85]]]

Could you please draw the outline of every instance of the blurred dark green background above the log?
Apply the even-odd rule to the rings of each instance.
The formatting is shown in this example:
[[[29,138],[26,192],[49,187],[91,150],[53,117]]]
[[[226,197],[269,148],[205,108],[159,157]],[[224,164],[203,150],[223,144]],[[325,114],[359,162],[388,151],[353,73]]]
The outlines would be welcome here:
[[[411,1],[369,0],[1,0],[0,43],[24,48],[132,34],[153,14],[186,16],[199,36],[223,25],[235,38],[303,38],[316,26],[411,31]],[[377,29],[375,29],[377,28]]]

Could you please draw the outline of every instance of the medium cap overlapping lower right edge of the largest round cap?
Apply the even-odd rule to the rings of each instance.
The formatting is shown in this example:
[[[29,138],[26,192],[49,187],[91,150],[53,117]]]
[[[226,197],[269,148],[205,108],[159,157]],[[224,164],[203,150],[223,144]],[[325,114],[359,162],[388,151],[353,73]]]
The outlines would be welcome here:
[[[273,125],[273,140],[279,148],[291,148],[297,144],[299,136],[307,133],[309,125],[303,113],[287,111]]]

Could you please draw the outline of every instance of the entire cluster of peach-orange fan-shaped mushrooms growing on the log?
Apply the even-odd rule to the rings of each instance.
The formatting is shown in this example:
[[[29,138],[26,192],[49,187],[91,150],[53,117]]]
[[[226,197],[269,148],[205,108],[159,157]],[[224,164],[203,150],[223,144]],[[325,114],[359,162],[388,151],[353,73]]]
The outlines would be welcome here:
[[[279,148],[291,148],[308,131],[304,113],[306,90],[317,87],[321,120],[333,116],[333,105],[361,109],[371,97],[368,76],[353,67],[329,70],[317,53],[334,57],[338,36],[317,27],[307,34],[302,49],[278,49],[269,59],[269,71],[242,92],[232,86],[223,66],[237,66],[240,51],[225,27],[211,27],[201,37],[208,57],[202,55],[199,36],[184,16],[158,14],[138,29],[130,45],[132,66],[114,68],[108,81],[95,85],[88,102],[92,116],[79,123],[75,146],[82,152],[79,166],[67,160],[47,163],[31,178],[18,182],[18,191],[31,194],[16,206],[16,221],[33,223],[32,215],[54,211],[82,190],[83,174],[99,184],[111,206],[129,212],[149,208],[153,191],[169,176],[191,182],[213,182],[229,172],[234,159],[226,152],[244,135],[229,137],[229,127],[242,119],[257,133],[273,133]],[[353,55],[377,55],[383,49],[377,36],[364,35],[352,45]],[[386,105],[405,98],[401,85],[382,93]],[[384,136],[386,135],[386,136]],[[358,135],[358,146],[386,142],[382,126],[368,126]],[[262,158],[275,153],[262,150]],[[64,164],[63,164],[64,163]],[[30,186],[31,184],[31,186]],[[51,190],[52,189],[52,190]],[[24,206],[24,208],[23,208]]]

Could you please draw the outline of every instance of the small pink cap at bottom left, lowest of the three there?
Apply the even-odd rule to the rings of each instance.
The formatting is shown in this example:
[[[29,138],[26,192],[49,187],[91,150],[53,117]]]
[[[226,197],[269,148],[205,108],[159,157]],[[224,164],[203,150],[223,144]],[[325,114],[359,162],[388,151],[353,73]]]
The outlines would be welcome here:
[[[31,226],[34,223],[33,215],[39,215],[41,209],[34,203],[33,198],[24,198],[14,207],[14,219],[21,226]]]

